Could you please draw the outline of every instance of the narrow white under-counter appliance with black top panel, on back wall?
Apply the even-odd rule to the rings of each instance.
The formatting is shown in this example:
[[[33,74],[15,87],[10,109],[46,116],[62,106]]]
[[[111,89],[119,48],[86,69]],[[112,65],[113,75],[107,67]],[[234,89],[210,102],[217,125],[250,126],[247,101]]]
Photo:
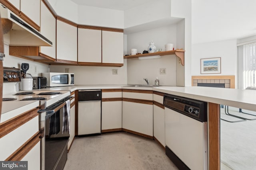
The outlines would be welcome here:
[[[101,133],[101,90],[78,90],[78,135]]]

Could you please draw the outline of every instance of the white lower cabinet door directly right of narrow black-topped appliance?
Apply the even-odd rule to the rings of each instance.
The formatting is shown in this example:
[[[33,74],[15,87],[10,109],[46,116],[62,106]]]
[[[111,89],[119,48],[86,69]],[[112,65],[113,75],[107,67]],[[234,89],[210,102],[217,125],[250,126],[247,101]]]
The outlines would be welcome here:
[[[101,130],[122,128],[122,101],[102,102]]]

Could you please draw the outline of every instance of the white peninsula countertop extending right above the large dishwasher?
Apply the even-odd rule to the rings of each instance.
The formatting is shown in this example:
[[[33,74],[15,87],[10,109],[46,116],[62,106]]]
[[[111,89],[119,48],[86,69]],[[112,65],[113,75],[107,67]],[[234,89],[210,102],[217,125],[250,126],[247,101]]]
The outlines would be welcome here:
[[[154,91],[256,111],[256,90],[162,86]]]

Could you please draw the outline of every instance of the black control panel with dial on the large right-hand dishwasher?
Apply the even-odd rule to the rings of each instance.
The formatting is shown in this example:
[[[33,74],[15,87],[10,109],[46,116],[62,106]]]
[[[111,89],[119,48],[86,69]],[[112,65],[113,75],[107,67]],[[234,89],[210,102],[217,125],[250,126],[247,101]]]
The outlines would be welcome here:
[[[207,121],[207,102],[165,94],[164,106],[198,121]]]

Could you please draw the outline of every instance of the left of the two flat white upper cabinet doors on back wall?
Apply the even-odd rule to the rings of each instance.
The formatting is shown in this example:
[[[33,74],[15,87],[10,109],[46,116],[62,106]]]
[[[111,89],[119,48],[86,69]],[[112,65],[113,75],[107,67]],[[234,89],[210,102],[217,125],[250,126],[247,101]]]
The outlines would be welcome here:
[[[78,28],[78,62],[101,63],[101,29]]]

